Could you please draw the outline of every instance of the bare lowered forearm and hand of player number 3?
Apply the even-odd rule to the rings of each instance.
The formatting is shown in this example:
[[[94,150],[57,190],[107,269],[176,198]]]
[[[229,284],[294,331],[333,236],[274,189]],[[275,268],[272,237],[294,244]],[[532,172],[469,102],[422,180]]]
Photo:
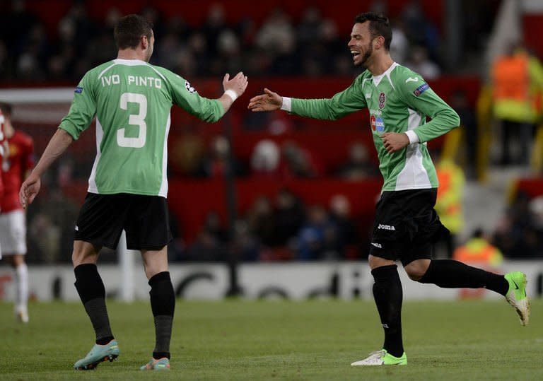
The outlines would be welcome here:
[[[66,151],[66,148],[74,141],[74,138],[71,137],[64,129],[57,129],[57,132],[54,133],[53,137],[47,144],[45,151],[43,152],[40,161],[37,162],[37,165],[30,172],[30,175],[26,178],[25,182],[21,185],[21,190],[19,191],[19,199],[21,200],[21,205],[24,209],[28,204],[32,204],[37,193],[40,192],[41,180],[40,177],[44,172],[49,168],[54,160]]]

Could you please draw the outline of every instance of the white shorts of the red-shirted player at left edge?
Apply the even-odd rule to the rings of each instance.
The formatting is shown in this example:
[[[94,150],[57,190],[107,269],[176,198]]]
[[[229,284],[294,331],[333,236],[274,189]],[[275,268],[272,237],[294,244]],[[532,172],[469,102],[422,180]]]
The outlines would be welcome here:
[[[26,216],[23,210],[0,214],[0,247],[4,256],[26,254]]]

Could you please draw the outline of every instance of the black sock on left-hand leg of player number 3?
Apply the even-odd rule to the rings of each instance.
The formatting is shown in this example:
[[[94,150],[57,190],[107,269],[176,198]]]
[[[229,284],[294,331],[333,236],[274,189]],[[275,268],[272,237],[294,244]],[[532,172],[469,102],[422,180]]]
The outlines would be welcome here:
[[[80,264],[74,269],[76,290],[93,324],[96,344],[104,345],[113,339],[110,319],[105,306],[105,287],[95,264]]]

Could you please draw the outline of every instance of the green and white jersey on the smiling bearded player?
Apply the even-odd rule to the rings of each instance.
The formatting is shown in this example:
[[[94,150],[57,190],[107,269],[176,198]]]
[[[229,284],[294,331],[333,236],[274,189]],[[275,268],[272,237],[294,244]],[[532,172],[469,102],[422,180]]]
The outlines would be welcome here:
[[[383,175],[383,191],[438,187],[436,169],[426,141],[446,134],[460,124],[452,108],[433,92],[424,79],[397,63],[373,76],[366,70],[355,81],[329,99],[291,98],[290,112],[303,117],[335,120],[368,108],[373,142]],[[288,105],[284,109],[288,110]],[[426,122],[426,116],[431,117]],[[380,136],[385,132],[416,134],[411,143],[388,153]],[[416,137],[412,136],[412,137]],[[413,141],[410,136],[410,141]]]

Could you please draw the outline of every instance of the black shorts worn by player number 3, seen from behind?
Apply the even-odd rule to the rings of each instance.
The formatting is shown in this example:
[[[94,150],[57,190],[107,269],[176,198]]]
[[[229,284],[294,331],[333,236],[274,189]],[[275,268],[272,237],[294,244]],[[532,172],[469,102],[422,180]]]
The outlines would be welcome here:
[[[74,240],[117,248],[122,230],[129,250],[160,250],[172,240],[164,197],[141,194],[87,193]]]

